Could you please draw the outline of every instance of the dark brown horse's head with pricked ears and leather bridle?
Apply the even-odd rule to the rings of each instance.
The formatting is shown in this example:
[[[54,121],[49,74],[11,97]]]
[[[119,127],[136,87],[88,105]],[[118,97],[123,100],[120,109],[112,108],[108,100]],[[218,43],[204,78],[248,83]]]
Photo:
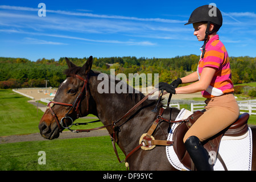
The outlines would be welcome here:
[[[82,67],[77,67],[66,57],[68,68],[67,78],[63,81],[53,98],[47,105],[47,110],[39,122],[40,134],[47,139],[59,137],[61,131],[72,125],[78,117],[84,117],[95,106],[88,90],[88,80],[92,68],[92,56]]]

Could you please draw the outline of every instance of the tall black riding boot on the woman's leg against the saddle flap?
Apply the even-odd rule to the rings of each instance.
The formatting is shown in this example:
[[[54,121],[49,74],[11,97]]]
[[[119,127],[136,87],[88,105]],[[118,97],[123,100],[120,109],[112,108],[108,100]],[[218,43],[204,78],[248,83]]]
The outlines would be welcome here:
[[[199,138],[192,136],[185,141],[185,147],[190,155],[197,171],[213,171],[212,165],[209,164],[209,155],[207,150],[201,144]]]

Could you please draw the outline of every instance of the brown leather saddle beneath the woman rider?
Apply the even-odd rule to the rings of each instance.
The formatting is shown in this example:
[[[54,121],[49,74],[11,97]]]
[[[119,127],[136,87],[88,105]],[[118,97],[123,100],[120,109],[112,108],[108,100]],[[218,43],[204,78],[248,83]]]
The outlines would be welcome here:
[[[174,131],[174,151],[176,152],[177,157],[179,158],[180,162],[187,167],[188,169],[195,170],[195,166],[185,148],[183,143],[183,138],[185,133],[187,133],[188,129],[196,122],[196,120],[204,114],[202,111],[196,111],[191,116],[188,117],[187,122],[181,123],[178,125]],[[225,136],[229,137],[238,137],[245,134],[248,130],[247,121],[249,119],[248,113],[243,113],[234,122],[232,125],[227,127],[226,129],[222,130],[220,133],[214,135],[213,137],[209,138],[208,140],[203,142],[204,148],[210,154],[218,154],[218,147],[220,146],[221,138]],[[215,152],[215,153],[213,153]],[[220,155],[217,155],[218,159],[224,166],[224,169],[227,170],[225,163],[221,159]]]

